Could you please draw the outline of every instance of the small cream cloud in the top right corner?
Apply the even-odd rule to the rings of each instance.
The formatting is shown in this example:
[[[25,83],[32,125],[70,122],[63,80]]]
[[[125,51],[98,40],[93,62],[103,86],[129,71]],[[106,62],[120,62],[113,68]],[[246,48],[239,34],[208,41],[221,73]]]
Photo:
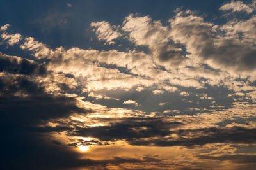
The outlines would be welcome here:
[[[255,1],[252,1],[252,4],[244,4],[243,1],[231,1],[230,3],[223,4],[223,6],[220,7],[220,10],[231,10],[233,13],[246,12],[249,14],[255,11]]]

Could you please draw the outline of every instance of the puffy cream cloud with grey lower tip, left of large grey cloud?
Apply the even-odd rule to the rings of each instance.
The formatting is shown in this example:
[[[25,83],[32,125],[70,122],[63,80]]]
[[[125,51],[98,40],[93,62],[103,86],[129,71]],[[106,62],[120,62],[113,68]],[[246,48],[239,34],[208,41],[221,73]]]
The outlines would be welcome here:
[[[181,48],[170,44],[170,30],[160,21],[152,21],[148,16],[129,15],[124,20],[122,30],[129,32],[129,40],[136,45],[148,46],[156,61],[165,63],[165,66],[179,65],[184,59]]]

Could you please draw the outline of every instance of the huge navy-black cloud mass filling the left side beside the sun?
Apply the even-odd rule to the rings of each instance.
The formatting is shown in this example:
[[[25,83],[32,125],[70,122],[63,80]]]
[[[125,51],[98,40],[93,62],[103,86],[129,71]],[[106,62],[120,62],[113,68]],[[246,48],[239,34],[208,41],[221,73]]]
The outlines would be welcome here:
[[[79,160],[74,151],[52,146],[45,137],[46,131],[38,129],[39,124],[52,118],[65,118],[72,113],[86,114],[89,110],[77,107],[76,98],[47,94],[43,86],[29,80],[29,74],[45,74],[45,71],[40,72],[38,64],[0,57],[1,71],[4,71],[0,77],[0,145],[4,162],[1,168],[70,169],[102,164],[89,159]]]

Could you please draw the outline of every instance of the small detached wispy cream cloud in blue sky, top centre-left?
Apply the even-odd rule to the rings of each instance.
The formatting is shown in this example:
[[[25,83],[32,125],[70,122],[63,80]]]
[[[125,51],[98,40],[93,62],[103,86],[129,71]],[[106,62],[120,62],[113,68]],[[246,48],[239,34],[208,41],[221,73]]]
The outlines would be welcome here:
[[[106,44],[108,45],[115,44],[113,39],[116,39],[122,36],[122,34],[116,31],[118,27],[111,26],[109,22],[106,22],[106,21],[92,22],[90,25],[91,27],[95,27],[93,31],[95,31],[97,38],[100,41],[106,41]]]

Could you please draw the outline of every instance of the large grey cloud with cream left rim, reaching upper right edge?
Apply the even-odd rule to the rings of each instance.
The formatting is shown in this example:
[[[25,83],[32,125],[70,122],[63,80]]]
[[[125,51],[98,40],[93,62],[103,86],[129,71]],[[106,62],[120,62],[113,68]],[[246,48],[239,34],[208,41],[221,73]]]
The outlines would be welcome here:
[[[186,45],[192,58],[199,57],[217,69],[227,69],[227,66],[237,71],[255,69],[253,44],[234,37],[225,38],[227,35],[214,32],[214,25],[204,22],[202,17],[177,15],[171,20],[171,27],[174,41]]]

